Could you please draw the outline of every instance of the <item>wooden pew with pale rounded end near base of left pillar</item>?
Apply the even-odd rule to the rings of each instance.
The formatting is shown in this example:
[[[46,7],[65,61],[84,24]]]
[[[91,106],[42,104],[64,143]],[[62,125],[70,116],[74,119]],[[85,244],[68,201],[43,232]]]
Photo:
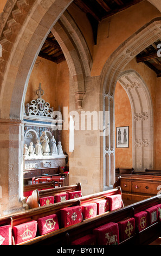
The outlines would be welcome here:
[[[50,196],[55,196],[56,194],[59,193],[68,193],[68,192],[73,192],[73,191],[81,191],[81,184],[75,184],[75,185],[70,185],[70,186],[62,186],[62,187],[55,187],[55,188],[50,188],[47,190],[34,190],[32,195],[27,198],[27,204],[29,206],[29,209],[37,208],[40,207],[39,204],[39,199],[43,197],[50,197]]]

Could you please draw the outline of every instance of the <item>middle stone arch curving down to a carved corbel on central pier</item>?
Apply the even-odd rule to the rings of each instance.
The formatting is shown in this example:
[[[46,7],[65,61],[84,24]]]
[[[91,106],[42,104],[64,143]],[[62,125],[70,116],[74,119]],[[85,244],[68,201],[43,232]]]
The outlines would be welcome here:
[[[67,10],[61,15],[51,32],[61,46],[73,77],[76,108],[82,108],[83,97],[86,94],[86,77],[91,75],[91,53],[78,26]]]

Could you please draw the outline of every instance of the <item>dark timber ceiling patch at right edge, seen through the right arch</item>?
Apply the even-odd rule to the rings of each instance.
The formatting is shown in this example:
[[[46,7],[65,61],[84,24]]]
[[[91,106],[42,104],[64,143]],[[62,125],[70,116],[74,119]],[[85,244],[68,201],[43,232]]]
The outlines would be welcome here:
[[[154,42],[136,57],[138,63],[145,63],[150,69],[156,72],[157,77],[161,77],[161,57],[158,57],[161,45],[159,47],[159,44],[161,44],[161,41]]]

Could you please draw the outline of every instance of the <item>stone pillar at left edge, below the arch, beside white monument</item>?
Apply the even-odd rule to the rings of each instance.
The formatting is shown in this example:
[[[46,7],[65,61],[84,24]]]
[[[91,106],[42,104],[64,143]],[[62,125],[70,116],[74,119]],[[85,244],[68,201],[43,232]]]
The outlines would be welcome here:
[[[0,119],[0,215],[22,210],[23,124]]]

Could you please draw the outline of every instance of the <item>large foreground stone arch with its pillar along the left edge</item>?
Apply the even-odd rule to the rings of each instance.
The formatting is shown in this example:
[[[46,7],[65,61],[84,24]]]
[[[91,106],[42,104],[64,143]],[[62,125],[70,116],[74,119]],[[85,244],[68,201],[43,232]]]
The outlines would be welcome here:
[[[15,0],[11,4],[8,1],[8,14],[4,15],[5,19],[0,19],[0,23],[3,23],[0,38],[3,49],[3,57],[0,60],[0,81],[2,82],[0,130],[2,133],[4,130],[7,131],[8,135],[7,140],[5,137],[5,147],[1,149],[2,169],[6,173],[2,184],[4,198],[1,204],[3,205],[1,215],[20,210],[22,207],[20,203],[23,198],[22,120],[25,93],[44,40],[72,2],[73,0],[61,0],[61,2],[60,0]],[[13,19],[10,19],[10,16]],[[79,80],[79,76],[76,79]],[[78,93],[76,97],[81,105],[85,92],[79,92],[79,90],[80,87],[76,88],[75,92]]]

